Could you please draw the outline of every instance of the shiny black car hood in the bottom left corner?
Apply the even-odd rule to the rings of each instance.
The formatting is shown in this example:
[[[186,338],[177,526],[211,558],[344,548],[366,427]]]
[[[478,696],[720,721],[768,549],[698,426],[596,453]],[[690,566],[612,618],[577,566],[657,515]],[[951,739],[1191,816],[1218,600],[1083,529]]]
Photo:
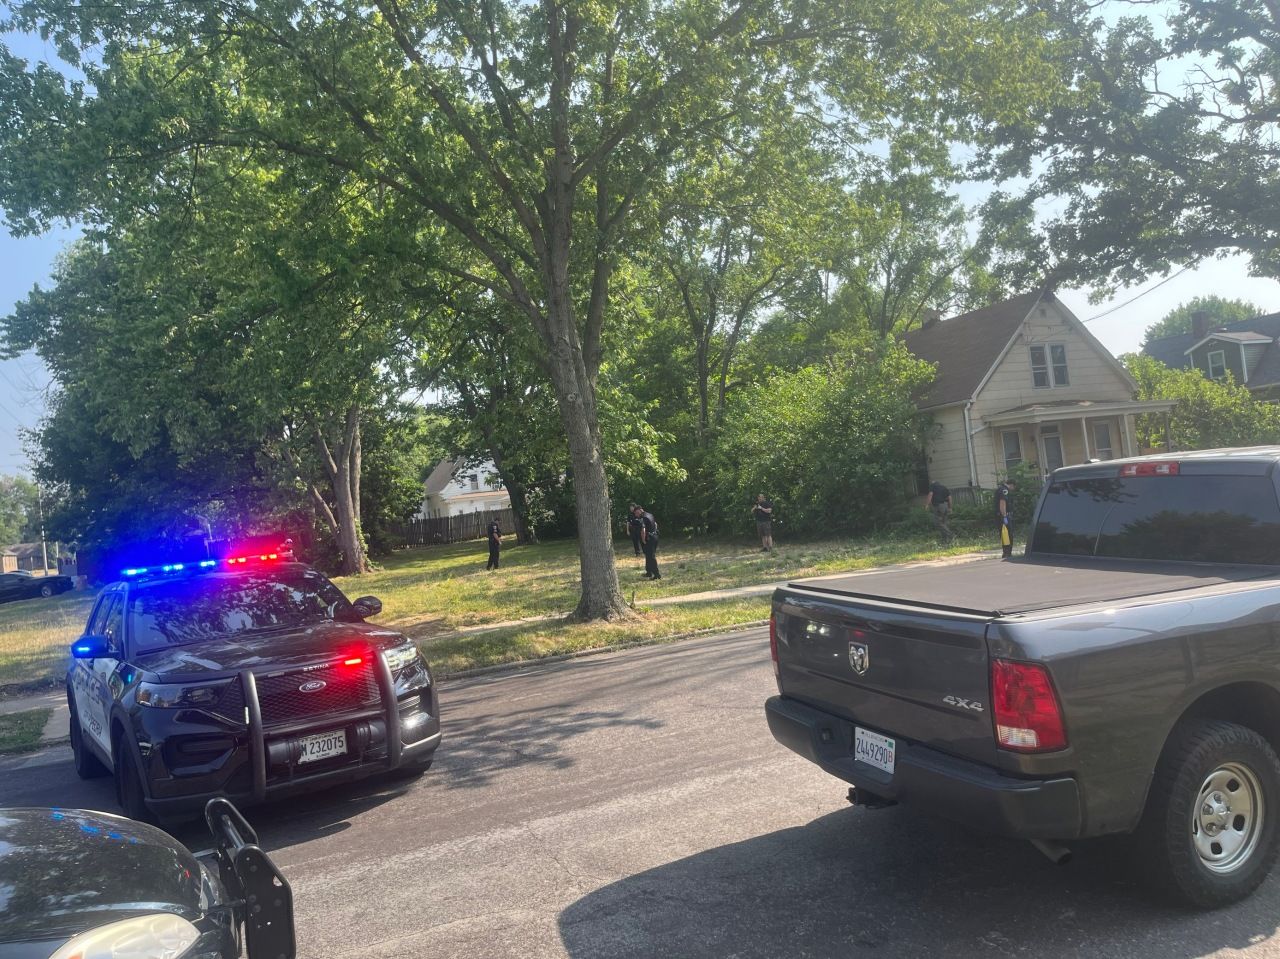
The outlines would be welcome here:
[[[0,809],[0,955],[15,951],[6,942],[198,910],[200,868],[166,832],[86,809]]]

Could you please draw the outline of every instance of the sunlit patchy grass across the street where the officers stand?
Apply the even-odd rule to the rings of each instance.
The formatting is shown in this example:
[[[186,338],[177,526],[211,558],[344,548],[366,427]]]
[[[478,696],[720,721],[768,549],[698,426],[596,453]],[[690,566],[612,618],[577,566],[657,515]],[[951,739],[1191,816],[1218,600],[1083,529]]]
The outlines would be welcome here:
[[[485,571],[483,543],[406,549],[376,572],[335,581],[356,598],[383,600],[378,622],[403,630],[422,644],[438,668],[554,656],[616,643],[660,641],[703,629],[728,627],[768,616],[768,598],[677,603],[650,607],[652,599],[703,593],[797,576],[863,570],[988,548],[960,540],[942,549],[928,538],[841,539],[780,544],[762,553],[750,543],[664,539],[658,554],[662,580],[643,577],[644,561],[631,543],[617,551],[623,595],[637,613],[616,624],[570,624],[562,618],[515,624],[531,617],[562,617],[577,602],[577,544],[572,540],[516,547],[508,540],[502,568]],[[68,649],[79,635],[92,593],[0,604],[0,691],[58,682]],[[468,626],[515,624],[476,635],[451,635]]]

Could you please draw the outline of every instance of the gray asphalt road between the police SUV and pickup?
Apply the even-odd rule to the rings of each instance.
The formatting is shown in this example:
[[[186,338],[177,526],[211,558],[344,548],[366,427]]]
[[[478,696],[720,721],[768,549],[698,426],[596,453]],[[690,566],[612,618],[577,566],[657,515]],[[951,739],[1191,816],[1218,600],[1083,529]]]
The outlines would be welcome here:
[[[411,782],[250,813],[303,956],[1280,956],[1280,878],[1187,914],[1116,842],[1065,867],[895,807],[773,743],[763,631],[449,685]],[[0,805],[111,809],[69,762]],[[189,842],[195,828],[178,830]]]

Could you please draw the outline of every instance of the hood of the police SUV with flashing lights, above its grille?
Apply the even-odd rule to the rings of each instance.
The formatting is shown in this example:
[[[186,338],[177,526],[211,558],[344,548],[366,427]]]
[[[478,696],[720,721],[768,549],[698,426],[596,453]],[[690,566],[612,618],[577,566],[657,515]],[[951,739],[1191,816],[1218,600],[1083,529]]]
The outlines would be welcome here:
[[[367,622],[325,621],[301,629],[248,633],[157,649],[140,654],[137,665],[164,681],[210,679],[239,670],[310,666],[338,656],[360,656],[407,641],[394,630]]]

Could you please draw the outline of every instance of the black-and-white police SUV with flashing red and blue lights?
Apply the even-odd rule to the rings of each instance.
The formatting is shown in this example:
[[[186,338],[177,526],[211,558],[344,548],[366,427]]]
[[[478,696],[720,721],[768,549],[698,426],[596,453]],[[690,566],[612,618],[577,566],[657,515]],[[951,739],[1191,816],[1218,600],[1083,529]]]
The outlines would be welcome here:
[[[72,647],[76,771],[134,819],[425,771],[439,695],[380,611],[285,553],[123,570]]]

